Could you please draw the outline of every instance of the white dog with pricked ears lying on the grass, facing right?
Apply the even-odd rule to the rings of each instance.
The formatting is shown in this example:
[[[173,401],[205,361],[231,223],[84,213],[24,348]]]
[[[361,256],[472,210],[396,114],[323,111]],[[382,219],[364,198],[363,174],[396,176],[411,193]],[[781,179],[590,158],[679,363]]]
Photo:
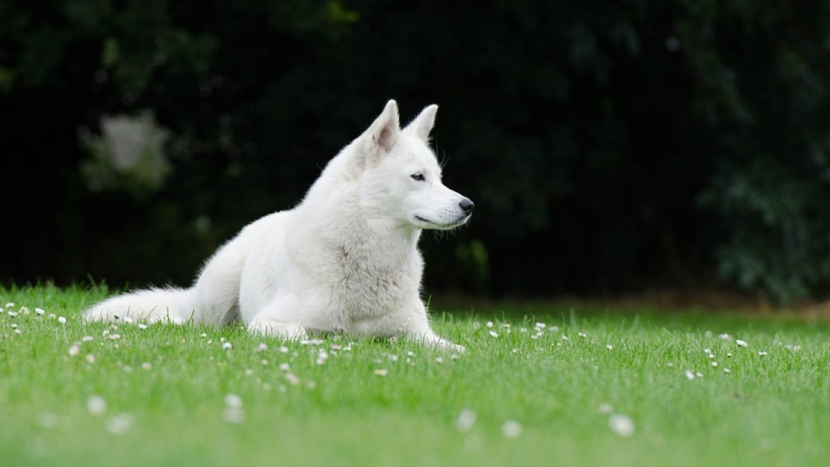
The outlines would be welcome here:
[[[403,130],[388,101],[369,129],[325,167],[302,203],[248,224],[204,264],[191,288],[111,297],[87,319],[133,317],[227,324],[305,338],[307,332],[438,337],[420,297],[422,229],[453,229],[473,203],[441,182],[428,140],[437,106]]]

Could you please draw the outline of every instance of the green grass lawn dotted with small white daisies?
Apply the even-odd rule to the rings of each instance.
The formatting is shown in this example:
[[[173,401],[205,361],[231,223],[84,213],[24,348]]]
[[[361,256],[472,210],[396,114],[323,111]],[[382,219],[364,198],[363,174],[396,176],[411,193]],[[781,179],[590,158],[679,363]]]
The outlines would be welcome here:
[[[2,465],[803,466],[830,452],[823,323],[526,305],[525,317],[437,314],[437,331],[468,348],[456,356],[80,322],[103,295],[0,288],[0,307],[15,303],[0,315]],[[88,407],[96,397],[103,413]],[[465,410],[475,421],[460,428]],[[612,430],[613,415],[633,433]]]

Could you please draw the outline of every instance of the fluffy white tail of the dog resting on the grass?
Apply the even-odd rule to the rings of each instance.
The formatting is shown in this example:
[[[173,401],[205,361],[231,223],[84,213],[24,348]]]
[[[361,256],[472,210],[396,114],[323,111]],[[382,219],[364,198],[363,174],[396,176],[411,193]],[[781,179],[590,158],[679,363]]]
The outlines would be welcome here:
[[[125,317],[143,322],[181,324],[193,316],[193,288],[149,288],[107,298],[87,308],[88,321],[119,321]]]

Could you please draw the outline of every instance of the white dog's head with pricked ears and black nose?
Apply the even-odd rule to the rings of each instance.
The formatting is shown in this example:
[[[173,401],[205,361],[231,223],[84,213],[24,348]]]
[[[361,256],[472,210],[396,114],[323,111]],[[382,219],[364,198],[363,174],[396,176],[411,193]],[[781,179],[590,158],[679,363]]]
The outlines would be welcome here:
[[[398,104],[388,101],[362,139],[360,202],[364,210],[413,229],[454,229],[472,215],[473,202],[441,181],[441,165],[429,149],[438,106],[401,129]]]

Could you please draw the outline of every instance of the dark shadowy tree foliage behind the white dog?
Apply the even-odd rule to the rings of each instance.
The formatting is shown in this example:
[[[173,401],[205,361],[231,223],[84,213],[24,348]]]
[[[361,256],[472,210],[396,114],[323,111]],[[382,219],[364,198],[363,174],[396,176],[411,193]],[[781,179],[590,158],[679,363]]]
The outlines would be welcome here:
[[[394,98],[477,204],[429,288],[818,297],[828,85],[814,0],[4,0],[0,282],[188,283]]]

